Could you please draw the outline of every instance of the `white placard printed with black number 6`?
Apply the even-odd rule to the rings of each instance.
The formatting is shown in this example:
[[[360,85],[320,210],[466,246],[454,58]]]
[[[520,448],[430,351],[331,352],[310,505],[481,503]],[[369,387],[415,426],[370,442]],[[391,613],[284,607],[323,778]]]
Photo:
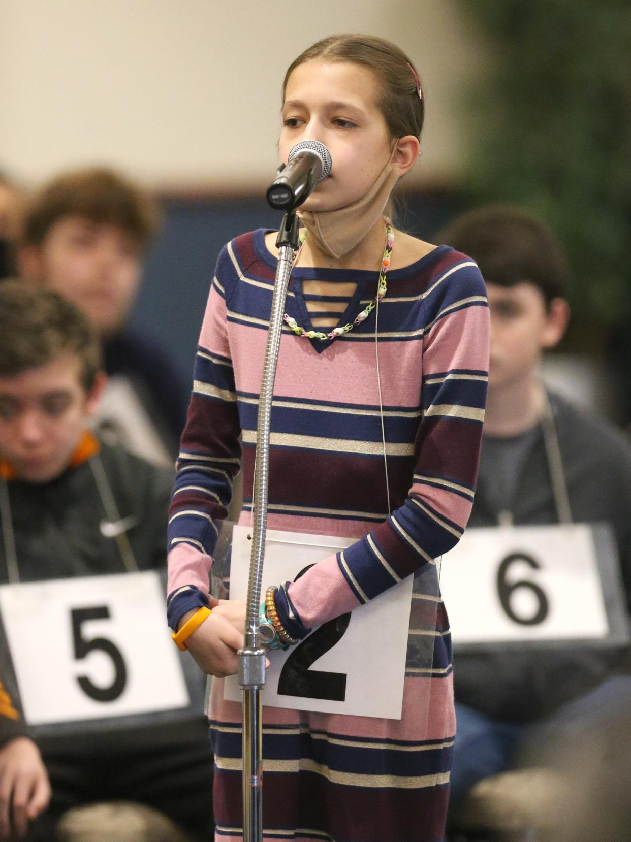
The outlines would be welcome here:
[[[442,559],[454,643],[586,640],[609,630],[591,527],[468,529]]]

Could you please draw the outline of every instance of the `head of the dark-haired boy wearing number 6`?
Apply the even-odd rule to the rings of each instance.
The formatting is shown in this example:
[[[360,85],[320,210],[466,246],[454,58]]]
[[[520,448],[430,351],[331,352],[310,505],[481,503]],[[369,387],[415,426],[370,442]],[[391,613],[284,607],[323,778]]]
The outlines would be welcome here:
[[[440,234],[479,265],[491,317],[490,393],[537,377],[544,350],[563,337],[568,265],[547,226],[512,205],[489,205],[458,216]]]

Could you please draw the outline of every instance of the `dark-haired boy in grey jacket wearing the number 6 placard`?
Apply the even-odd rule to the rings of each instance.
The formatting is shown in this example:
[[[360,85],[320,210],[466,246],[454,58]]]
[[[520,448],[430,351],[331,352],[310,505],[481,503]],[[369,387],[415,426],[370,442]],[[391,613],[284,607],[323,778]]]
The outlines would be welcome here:
[[[559,343],[570,317],[559,242],[536,218],[500,205],[457,218],[440,237],[479,264],[491,316],[489,393],[469,528],[555,524],[564,512],[573,523],[607,523],[629,608],[631,445],[541,379],[543,351]],[[454,648],[454,802],[477,781],[510,768],[549,717],[559,737],[564,724],[577,733],[577,722],[589,727],[610,701],[618,704],[622,696],[631,704],[626,648],[559,643],[536,654],[499,643],[486,653]]]

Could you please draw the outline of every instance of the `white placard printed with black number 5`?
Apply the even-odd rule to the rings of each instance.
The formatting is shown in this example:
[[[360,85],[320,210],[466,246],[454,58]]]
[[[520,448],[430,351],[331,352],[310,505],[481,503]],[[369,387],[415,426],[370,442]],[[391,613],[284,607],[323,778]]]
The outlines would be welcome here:
[[[3,585],[0,610],[31,725],[190,703],[158,573]]]

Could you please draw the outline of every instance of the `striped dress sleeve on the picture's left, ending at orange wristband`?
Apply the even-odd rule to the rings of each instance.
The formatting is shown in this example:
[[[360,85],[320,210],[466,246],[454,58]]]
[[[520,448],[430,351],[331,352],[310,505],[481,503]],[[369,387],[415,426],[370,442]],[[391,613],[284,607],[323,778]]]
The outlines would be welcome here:
[[[226,291],[217,261],[195,357],[193,391],[182,434],[168,519],[168,621],[207,605],[217,520],[226,517],[241,448],[233,364],[227,340]]]

